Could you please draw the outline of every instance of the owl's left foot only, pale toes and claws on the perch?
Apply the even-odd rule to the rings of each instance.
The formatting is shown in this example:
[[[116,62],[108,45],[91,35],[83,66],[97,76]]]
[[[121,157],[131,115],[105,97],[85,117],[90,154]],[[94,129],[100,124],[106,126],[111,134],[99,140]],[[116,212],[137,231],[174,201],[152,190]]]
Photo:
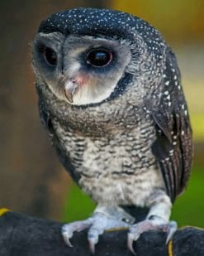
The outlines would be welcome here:
[[[69,239],[73,237],[75,231],[80,232],[83,229],[88,229],[88,243],[91,252],[94,254],[95,245],[98,242],[98,236],[108,229],[128,229],[130,224],[123,220],[111,218],[109,215],[104,215],[102,212],[94,212],[93,216],[87,220],[75,221],[62,226],[62,235],[65,244],[72,247]]]

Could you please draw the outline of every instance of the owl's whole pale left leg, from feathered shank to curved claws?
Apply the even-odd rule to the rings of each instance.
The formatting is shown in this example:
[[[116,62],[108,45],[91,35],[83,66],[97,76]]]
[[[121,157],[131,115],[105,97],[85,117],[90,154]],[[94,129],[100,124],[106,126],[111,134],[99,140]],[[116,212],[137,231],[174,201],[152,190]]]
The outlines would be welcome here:
[[[75,231],[80,232],[88,229],[88,242],[91,251],[94,253],[95,244],[98,242],[98,236],[108,229],[128,229],[130,224],[134,223],[134,218],[122,210],[120,207],[107,207],[98,205],[94,210],[93,216],[87,220],[75,221],[63,225],[62,235],[64,242],[72,247],[69,239],[73,237]]]

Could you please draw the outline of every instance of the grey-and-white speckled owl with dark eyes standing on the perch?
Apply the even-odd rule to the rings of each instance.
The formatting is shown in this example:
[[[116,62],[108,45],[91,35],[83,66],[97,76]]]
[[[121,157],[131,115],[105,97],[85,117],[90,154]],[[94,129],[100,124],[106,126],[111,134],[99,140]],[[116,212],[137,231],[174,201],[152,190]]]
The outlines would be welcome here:
[[[62,228],[67,244],[88,229],[94,251],[105,229],[129,229],[128,247],[169,221],[192,163],[192,130],[177,60],[139,17],[76,8],[40,23],[33,42],[40,118],[60,161],[97,202],[93,216]],[[125,206],[149,208],[134,224]]]

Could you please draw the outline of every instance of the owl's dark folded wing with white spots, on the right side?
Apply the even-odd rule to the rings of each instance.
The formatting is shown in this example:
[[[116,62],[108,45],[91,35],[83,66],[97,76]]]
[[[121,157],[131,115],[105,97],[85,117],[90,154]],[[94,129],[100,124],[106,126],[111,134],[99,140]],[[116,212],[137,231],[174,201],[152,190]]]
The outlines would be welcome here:
[[[156,131],[152,152],[159,164],[168,196],[173,201],[185,188],[190,175],[192,128],[176,59],[172,52],[168,55],[170,61],[164,75],[163,97],[158,109],[152,111]]]

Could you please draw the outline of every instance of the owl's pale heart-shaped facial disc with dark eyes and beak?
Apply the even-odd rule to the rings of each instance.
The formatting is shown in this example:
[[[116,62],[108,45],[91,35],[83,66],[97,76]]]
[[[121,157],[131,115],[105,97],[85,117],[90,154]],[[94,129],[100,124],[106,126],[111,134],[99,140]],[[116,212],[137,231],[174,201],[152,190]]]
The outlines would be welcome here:
[[[127,41],[104,36],[40,32],[33,46],[36,75],[59,99],[74,105],[108,99],[130,60]]]

